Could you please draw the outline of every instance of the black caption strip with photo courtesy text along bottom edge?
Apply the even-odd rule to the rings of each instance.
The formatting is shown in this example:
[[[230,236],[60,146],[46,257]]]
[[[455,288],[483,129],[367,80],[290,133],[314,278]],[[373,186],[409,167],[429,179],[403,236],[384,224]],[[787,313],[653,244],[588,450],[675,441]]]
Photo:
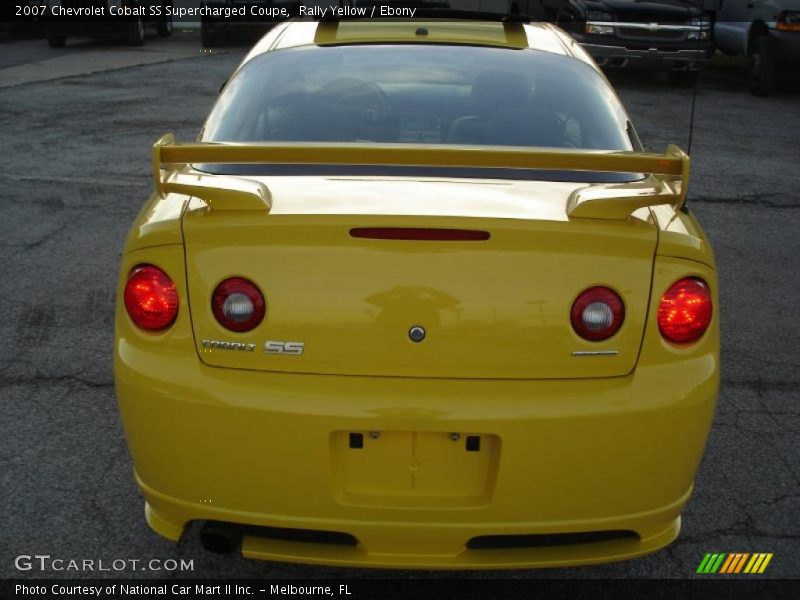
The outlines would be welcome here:
[[[510,571],[508,578],[482,579],[479,571],[415,572],[413,579],[354,579],[343,570],[336,579],[8,579],[0,598],[167,598],[175,600],[257,600],[260,598],[337,598],[340,600],[421,598],[425,600],[606,599],[785,600],[800,597],[800,580],[753,575],[708,575],[696,579],[542,579],[546,570]],[[530,577],[535,577],[530,579]]]

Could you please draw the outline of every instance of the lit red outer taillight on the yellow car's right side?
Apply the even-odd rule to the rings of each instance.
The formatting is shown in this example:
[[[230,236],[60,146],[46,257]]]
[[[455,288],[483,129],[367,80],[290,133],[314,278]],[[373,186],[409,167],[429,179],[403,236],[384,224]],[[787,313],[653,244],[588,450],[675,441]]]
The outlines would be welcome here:
[[[681,279],[661,296],[658,328],[670,342],[699,340],[711,323],[713,307],[708,286],[700,279]]]

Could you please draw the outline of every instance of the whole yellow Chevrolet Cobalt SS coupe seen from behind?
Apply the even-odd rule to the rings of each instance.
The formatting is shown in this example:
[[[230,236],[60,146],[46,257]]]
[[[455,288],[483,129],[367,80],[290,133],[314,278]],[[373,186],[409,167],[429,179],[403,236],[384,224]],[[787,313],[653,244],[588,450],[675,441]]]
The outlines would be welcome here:
[[[150,526],[327,565],[672,542],[719,381],[689,159],[542,23],[274,28],[153,148],[116,391]]]

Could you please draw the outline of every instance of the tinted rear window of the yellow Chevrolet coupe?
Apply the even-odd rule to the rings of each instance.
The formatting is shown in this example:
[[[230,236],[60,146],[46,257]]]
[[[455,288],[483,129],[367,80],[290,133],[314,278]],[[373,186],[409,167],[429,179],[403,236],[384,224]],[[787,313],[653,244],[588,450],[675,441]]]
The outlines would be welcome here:
[[[306,46],[262,54],[225,88],[206,142],[381,142],[631,150],[606,81],[538,50]]]

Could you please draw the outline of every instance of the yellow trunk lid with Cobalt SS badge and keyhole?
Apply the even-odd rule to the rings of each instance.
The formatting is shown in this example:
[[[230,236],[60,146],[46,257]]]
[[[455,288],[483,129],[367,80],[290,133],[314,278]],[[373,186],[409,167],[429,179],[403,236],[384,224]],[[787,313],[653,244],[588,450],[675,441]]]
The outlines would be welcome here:
[[[570,220],[567,197],[585,184],[563,182],[259,181],[272,194],[269,213],[211,211],[193,200],[184,215],[189,305],[206,364],[522,379],[620,376],[636,364],[657,241],[647,209],[628,220]],[[352,237],[359,227],[459,228],[490,238]],[[215,287],[234,276],[266,298],[266,317],[246,333],[224,329],[211,310]],[[573,301],[594,285],[613,288],[625,304],[622,328],[603,342],[582,340],[570,324]],[[425,329],[424,341],[411,341],[413,326]],[[269,353],[267,342],[304,350]],[[598,350],[618,353],[573,354]]]

